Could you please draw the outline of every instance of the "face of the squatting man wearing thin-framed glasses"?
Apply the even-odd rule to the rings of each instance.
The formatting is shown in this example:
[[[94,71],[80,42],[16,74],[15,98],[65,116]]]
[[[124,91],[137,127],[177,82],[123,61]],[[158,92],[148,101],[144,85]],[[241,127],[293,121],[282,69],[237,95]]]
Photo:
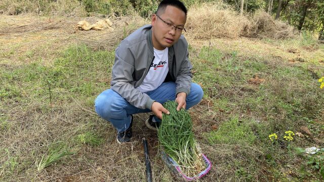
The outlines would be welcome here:
[[[154,14],[151,21],[153,47],[157,50],[171,47],[179,40],[182,32],[172,25],[183,28],[185,23],[186,14],[173,6],[167,6],[164,12]]]

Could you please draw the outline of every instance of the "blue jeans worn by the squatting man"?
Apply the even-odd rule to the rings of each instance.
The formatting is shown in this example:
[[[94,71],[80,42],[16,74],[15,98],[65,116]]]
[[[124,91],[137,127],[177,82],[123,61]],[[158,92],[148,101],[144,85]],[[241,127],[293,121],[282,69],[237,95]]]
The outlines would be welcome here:
[[[155,90],[146,92],[151,99],[161,104],[176,99],[176,83],[164,82]],[[198,104],[203,99],[203,89],[191,83],[190,94],[186,98],[186,109]],[[131,124],[131,114],[151,112],[150,109],[140,109],[131,105],[112,89],[102,92],[95,100],[95,109],[100,117],[111,122],[119,132],[123,132]],[[155,119],[157,119],[155,117]]]

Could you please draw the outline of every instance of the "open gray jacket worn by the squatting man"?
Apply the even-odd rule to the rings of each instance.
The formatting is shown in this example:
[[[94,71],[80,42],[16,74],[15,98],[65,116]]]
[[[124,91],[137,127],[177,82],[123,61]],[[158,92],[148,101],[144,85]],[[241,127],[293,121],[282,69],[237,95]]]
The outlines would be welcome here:
[[[140,109],[151,109],[154,100],[136,89],[142,84],[154,59],[151,25],[145,25],[120,42],[115,50],[111,89]],[[191,68],[188,43],[183,35],[169,48],[169,73],[177,84],[176,94],[190,93]]]

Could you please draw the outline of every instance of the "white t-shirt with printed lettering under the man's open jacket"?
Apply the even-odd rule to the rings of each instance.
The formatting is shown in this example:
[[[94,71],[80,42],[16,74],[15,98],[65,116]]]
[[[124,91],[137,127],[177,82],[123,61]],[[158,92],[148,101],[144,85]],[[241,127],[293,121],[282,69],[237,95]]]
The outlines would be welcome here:
[[[137,87],[142,93],[156,89],[166,79],[169,71],[168,50],[166,48],[160,51],[154,48],[153,63],[142,84]]]

